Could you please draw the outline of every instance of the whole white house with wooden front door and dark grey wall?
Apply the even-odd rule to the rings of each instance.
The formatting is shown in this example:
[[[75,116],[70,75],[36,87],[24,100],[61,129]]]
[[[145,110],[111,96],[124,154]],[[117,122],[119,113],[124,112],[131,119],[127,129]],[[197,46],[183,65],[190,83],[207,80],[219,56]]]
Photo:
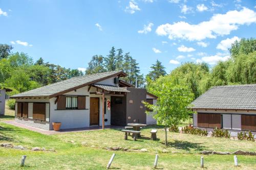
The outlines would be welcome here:
[[[147,115],[141,102],[147,96],[150,100],[157,98],[145,89],[119,80],[125,76],[122,71],[102,72],[13,95],[15,120],[46,130],[53,129],[53,122],[60,122],[61,129],[146,124]]]

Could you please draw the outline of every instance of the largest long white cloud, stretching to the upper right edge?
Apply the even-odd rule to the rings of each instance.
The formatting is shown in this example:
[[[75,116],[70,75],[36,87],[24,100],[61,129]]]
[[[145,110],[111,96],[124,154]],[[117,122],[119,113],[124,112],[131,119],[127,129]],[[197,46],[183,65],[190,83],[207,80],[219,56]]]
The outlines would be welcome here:
[[[174,22],[173,25],[166,23],[158,26],[156,33],[160,36],[168,36],[169,39],[201,41],[205,38],[229,35],[239,26],[250,25],[254,22],[256,22],[256,12],[244,7],[240,11],[233,10],[225,14],[215,14],[210,20],[200,22],[197,25],[191,25],[184,21]]]

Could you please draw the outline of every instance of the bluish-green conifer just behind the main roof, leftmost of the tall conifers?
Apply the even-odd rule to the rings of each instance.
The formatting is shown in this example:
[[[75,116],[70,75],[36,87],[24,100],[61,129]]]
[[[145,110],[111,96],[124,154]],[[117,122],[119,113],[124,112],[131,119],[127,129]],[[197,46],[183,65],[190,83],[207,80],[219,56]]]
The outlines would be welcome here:
[[[95,73],[104,72],[104,57],[102,55],[95,55],[92,57],[92,60],[88,63],[88,67],[86,69],[86,74],[91,75]]]

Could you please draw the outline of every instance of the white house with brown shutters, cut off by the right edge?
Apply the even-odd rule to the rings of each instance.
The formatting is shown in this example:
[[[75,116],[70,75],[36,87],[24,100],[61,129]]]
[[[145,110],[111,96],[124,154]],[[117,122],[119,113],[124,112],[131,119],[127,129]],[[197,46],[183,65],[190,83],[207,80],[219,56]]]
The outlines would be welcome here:
[[[212,87],[191,104],[194,127],[256,133],[256,84]]]

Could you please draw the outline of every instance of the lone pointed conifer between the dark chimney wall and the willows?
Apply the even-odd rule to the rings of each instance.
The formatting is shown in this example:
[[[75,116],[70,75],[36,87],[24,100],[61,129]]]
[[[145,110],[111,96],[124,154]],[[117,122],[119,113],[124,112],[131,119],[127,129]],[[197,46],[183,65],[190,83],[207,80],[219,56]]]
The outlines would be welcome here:
[[[147,77],[150,78],[151,80],[156,80],[160,76],[165,76],[166,75],[166,72],[164,70],[165,67],[158,60],[156,61],[156,64],[152,64],[152,66],[150,68],[152,70],[150,71],[150,73],[148,73]]]

